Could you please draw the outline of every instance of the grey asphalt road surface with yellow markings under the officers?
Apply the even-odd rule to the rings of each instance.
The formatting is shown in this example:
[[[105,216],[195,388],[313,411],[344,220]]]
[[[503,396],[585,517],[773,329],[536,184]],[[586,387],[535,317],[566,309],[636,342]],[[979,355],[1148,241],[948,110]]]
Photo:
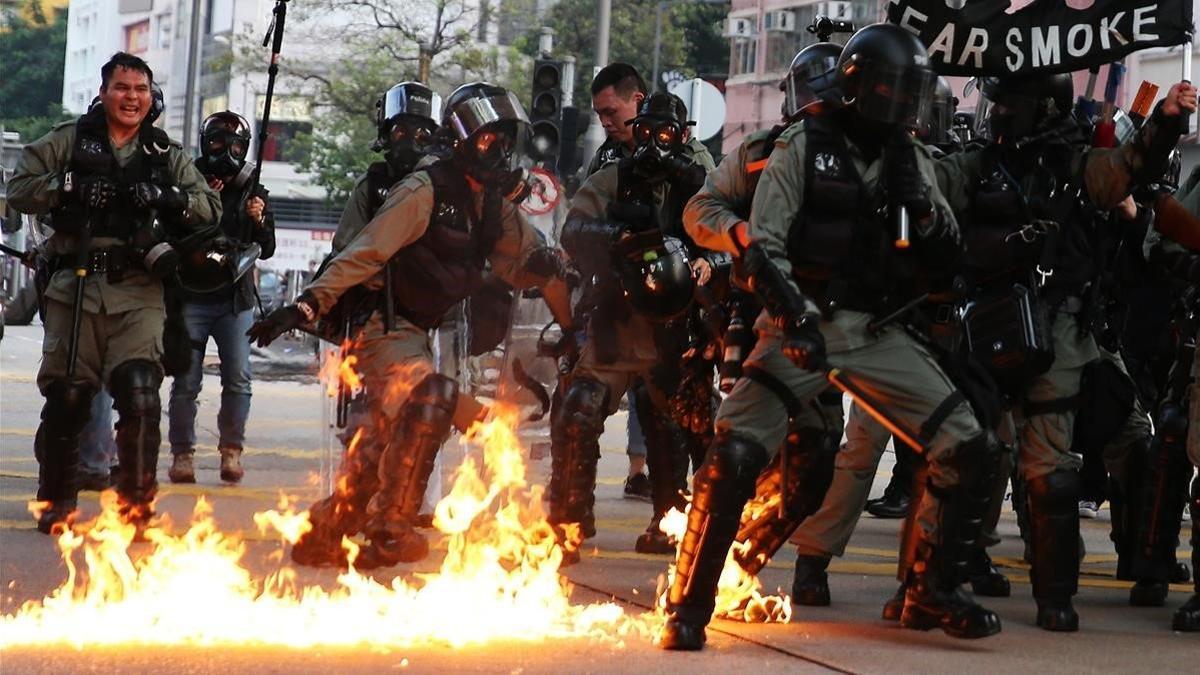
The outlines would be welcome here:
[[[37,464],[32,454],[42,399],[34,384],[41,329],[8,327],[0,342],[0,613],[8,615],[22,603],[42,598],[62,583],[66,568],[54,542],[34,528],[26,502],[36,490]],[[210,346],[211,350],[211,346]],[[302,378],[301,378],[302,380]],[[164,460],[158,509],[176,521],[186,520],[197,495],[214,504],[222,528],[253,531],[251,515],[272,507],[278,492],[308,503],[318,496],[312,477],[320,472],[326,436],[322,418],[322,389],[310,380],[256,382],[247,430],[246,479],[239,486],[222,485],[217,474],[216,407],[220,382],[206,375],[197,422],[198,483],[167,483]],[[163,386],[166,405],[168,386]],[[166,414],[163,417],[166,437]],[[665,556],[634,552],[634,540],[649,519],[649,504],[622,497],[625,476],[624,416],[608,423],[601,441],[602,459],[596,510],[599,536],[588,542],[581,565],[566,571],[575,583],[574,601],[614,599],[629,611],[650,604]],[[448,453],[448,458],[458,456]],[[449,472],[452,467],[444,471]],[[545,480],[548,458],[530,460],[535,480]],[[875,491],[882,490],[890,471],[886,455]],[[97,495],[84,492],[85,514],[96,512]],[[895,551],[899,521],[864,516],[846,556],[830,566],[833,607],[796,608],[790,625],[714,622],[708,647],[700,653],[672,653],[649,641],[623,644],[588,640],[546,640],[450,649],[306,649],[245,647],[85,647],[14,646],[0,653],[0,671],[164,671],[174,673],[350,673],[350,671],[490,671],[490,673],[1195,673],[1200,663],[1200,635],[1170,631],[1170,616],[1190,586],[1176,586],[1166,608],[1127,605],[1128,584],[1114,579],[1108,510],[1082,525],[1087,545],[1084,578],[1076,607],[1082,629],[1051,634],[1033,625],[1028,569],[1020,561],[1021,544],[1013,513],[1006,509],[1003,543],[994,557],[1013,579],[1012,598],[989,599],[988,607],[1003,620],[1003,633],[985,640],[961,641],[940,632],[902,631],[880,619],[880,608],[895,589]],[[262,560],[277,544],[251,538],[247,560]],[[440,550],[444,550],[440,549]],[[436,549],[436,555],[438,550]],[[768,589],[791,585],[794,551],[785,548],[763,573]],[[248,563],[250,565],[250,563]],[[406,566],[376,574],[386,579],[410,572]],[[335,573],[305,571],[307,583],[332,586]],[[187,611],[187,608],[180,608]],[[364,617],[368,621],[370,617]]]

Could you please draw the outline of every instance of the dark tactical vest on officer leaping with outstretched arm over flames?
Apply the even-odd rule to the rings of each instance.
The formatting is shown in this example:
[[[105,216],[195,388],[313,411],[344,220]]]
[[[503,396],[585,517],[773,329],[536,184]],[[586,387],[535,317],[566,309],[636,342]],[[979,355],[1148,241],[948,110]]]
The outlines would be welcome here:
[[[390,267],[396,313],[427,330],[479,288],[487,256],[500,238],[503,197],[485,195],[476,221],[461,169],[443,160],[421,171],[433,181],[430,225],[392,257]]]

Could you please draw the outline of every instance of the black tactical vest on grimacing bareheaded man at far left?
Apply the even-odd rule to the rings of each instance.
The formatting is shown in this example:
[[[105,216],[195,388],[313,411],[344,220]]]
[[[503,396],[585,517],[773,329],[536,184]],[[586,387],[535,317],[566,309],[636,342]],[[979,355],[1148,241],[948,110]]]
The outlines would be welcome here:
[[[167,166],[170,139],[163,130],[143,124],[136,143],[138,150],[121,167],[108,141],[103,107],[97,106],[79,118],[71,150],[72,178],[79,185],[92,177],[106,177],[116,184],[118,196],[104,209],[90,210],[74,204],[56,209],[54,221],[65,223],[65,232],[78,232],[90,226],[92,237],[132,241],[134,233],[154,225],[150,211],[133,202],[131,187],[136,183],[174,184]]]

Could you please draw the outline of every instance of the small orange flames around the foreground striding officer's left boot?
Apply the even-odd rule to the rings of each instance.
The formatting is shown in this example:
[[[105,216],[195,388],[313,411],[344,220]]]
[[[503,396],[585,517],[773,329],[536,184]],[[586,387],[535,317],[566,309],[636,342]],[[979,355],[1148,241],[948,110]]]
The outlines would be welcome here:
[[[691,508],[691,504],[688,504]],[[679,509],[671,509],[662,516],[659,528],[676,540],[682,540],[688,531],[688,515]],[[732,619],[746,623],[787,623],[792,620],[792,601],[786,595],[764,596],[757,577],[748,574],[733,558],[739,546],[745,543],[734,542],[725,557],[725,567],[716,584],[716,609],[713,617]],[[674,566],[667,572],[665,587],[659,593],[659,608],[667,602],[666,590],[674,578]]]

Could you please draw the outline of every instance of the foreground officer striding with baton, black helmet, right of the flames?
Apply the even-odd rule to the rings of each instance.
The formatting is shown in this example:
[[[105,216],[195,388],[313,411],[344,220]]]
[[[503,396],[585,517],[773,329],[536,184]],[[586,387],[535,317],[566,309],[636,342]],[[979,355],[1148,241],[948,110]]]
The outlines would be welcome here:
[[[781,135],[755,191],[752,244],[742,259],[766,311],[748,368],[767,371],[800,402],[829,377],[862,380],[925,446],[929,489],[917,507],[922,527],[901,625],[983,638],[1000,632],[1000,619],[960,584],[986,509],[984,486],[997,470],[997,443],[912,338],[894,327],[866,328],[906,299],[892,295],[907,268],[953,259],[959,246],[932,159],[908,133],[936,76],[916,37],[876,24],[850,38],[835,77],[851,102]],[[910,245],[894,247],[898,239]],[[667,593],[665,649],[703,646],[742,509],[786,428],[780,396],[758,381],[742,378],[722,401],[716,440],[692,484]]]

